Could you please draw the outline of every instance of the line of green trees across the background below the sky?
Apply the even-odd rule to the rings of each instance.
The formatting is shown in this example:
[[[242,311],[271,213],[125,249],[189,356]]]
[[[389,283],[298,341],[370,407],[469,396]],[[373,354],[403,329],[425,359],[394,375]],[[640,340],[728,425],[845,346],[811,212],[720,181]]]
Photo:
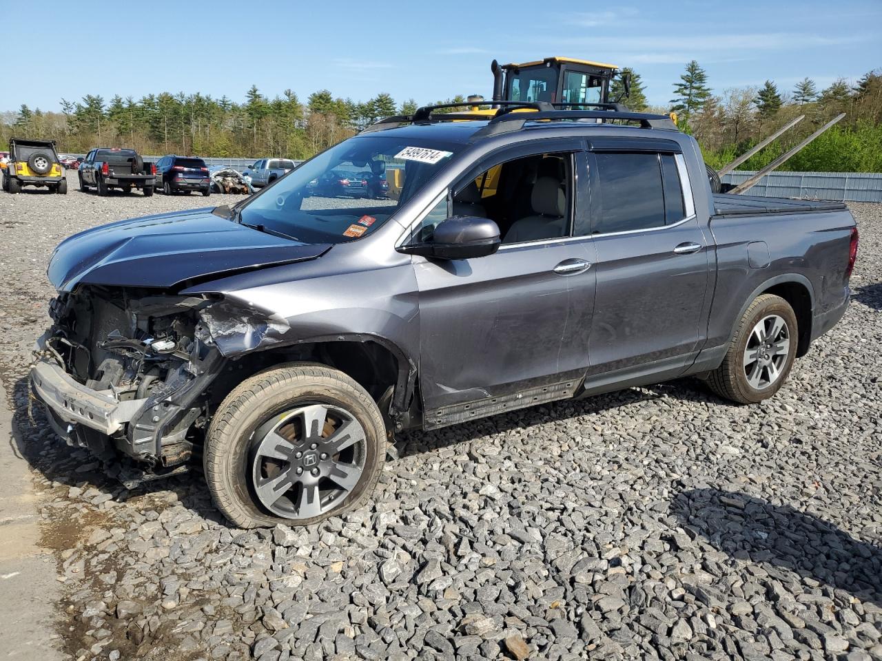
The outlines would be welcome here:
[[[679,127],[696,137],[706,160],[716,166],[746,152],[763,137],[797,115],[804,121],[748,160],[758,169],[841,112],[846,119],[827,131],[784,169],[882,172],[882,70],[870,71],[849,85],[842,78],[825,89],[804,78],[793,90],[774,81],[712,92],[706,71],[696,61],[685,67],[666,106],[647,101],[637,71],[631,75],[627,105],[635,110],[675,112]],[[624,89],[613,81],[611,93]],[[436,103],[461,102],[462,96]],[[335,97],[328,90],[311,93],[305,102],[286,90],[272,99],[252,85],[242,102],[201,93],[147,94],[140,99],[100,95],[61,101],[62,111],[43,112],[22,105],[0,116],[0,139],[11,135],[55,139],[63,152],[83,153],[97,145],[134,147],[142,153],[193,153],[213,157],[261,155],[306,159],[355,135],[388,115],[407,115],[413,99],[396,102],[388,93],[367,101]]]

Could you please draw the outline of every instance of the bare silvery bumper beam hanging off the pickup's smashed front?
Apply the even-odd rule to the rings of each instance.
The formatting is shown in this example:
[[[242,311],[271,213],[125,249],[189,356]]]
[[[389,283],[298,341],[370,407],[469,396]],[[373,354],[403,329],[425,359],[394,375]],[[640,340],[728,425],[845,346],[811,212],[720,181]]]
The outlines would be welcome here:
[[[116,434],[147,401],[121,402],[111,390],[86,388],[48,359],[38,360],[31,368],[31,388],[52,412],[53,427],[65,440],[71,438],[73,425],[83,425],[108,436]],[[57,425],[59,421],[66,423],[66,428]]]

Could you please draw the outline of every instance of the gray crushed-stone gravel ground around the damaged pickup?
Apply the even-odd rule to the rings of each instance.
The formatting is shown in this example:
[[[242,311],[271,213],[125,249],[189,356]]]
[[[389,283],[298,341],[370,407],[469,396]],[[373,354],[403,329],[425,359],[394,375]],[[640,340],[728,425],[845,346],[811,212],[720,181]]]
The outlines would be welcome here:
[[[71,657],[882,659],[882,205],[774,399],[684,380],[408,434],[369,508],[243,532],[198,475],[126,491],[27,415],[56,243],[204,204],[0,195],[0,374]]]

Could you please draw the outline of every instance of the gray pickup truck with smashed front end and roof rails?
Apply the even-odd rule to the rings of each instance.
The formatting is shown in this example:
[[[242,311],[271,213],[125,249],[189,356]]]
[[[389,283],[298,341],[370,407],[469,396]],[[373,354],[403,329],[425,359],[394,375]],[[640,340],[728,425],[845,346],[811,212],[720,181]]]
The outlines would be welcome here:
[[[56,433],[138,479],[201,464],[239,526],[312,524],[396,432],[684,375],[759,402],[845,311],[848,210],[712,194],[662,115],[433,110],[63,241],[31,373]],[[387,168],[388,199],[318,195]]]

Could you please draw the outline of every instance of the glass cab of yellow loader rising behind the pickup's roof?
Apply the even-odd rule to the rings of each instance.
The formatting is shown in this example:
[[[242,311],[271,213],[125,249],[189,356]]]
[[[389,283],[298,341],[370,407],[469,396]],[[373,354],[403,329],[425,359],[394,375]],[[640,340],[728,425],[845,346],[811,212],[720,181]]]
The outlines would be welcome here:
[[[546,57],[523,64],[504,64],[502,93],[498,100],[548,101],[549,103],[608,103],[609,82],[617,74],[615,64]]]

